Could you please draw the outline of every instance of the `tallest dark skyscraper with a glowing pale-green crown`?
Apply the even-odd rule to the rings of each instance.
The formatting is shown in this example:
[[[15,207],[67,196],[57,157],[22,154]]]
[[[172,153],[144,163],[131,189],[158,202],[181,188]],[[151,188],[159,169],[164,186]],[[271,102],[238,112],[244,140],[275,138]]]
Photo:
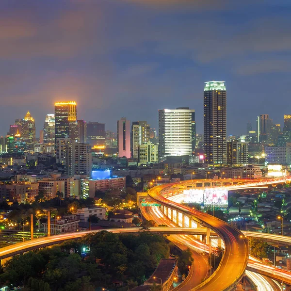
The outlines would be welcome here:
[[[204,153],[206,163],[226,164],[226,85],[224,81],[205,82]]]

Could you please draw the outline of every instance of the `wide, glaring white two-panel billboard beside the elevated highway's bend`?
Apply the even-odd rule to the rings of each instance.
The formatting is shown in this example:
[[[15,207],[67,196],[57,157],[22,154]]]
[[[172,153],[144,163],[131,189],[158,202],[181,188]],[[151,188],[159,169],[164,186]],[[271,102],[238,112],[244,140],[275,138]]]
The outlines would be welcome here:
[[[184,190],[185,203],[199,204],[228,204],[228,191],[224,188],[189,189]]]

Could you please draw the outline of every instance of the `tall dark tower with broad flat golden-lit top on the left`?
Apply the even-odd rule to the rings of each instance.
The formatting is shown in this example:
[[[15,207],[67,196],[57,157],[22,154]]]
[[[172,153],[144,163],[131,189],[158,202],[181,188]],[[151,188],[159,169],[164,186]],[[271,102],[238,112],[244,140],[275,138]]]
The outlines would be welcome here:
[[[55,103],[55,144],[58,138],[78,140],[77,104],[75,101]]]

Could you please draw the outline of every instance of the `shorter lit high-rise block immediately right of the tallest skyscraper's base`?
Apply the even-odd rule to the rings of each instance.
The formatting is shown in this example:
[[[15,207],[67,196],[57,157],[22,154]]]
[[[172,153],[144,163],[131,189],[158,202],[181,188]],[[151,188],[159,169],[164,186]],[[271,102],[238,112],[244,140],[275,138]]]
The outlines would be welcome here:
[[[238,140],[227,143],[227,163],[234,167],[248,164],[248,143]]]

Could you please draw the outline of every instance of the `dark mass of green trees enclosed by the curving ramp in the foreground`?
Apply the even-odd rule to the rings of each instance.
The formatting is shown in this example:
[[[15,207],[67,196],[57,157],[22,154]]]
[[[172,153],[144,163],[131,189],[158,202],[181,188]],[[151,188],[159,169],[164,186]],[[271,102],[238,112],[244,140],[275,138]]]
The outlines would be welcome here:
[[[83,248],[88,250],[85,258]],[[75,253],[70,254],[70,249]],[[114,278],[133,287],[144,282],[169,254],[170,247],[160,235],[118,235],[103,230],[13,257],[0,274],[0,284],[23,286],[24,291],[94,291]]]

